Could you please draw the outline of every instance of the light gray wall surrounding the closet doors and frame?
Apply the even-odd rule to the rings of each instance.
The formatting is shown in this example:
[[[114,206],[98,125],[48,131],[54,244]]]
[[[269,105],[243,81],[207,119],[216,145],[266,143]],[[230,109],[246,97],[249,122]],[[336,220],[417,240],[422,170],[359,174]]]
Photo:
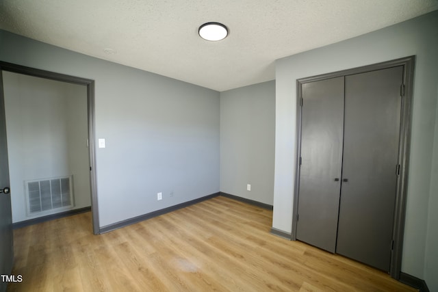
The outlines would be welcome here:
[[[296,79],[417,55],[402,271],[424,278],[431,291],[438,291],[438,144],[434,137],[437,135],[438,99],[437,27],[438,12],[435,11],[370,34],[276,61],[276,156],[272,222],[274,228],[291,233],[296,169]]]

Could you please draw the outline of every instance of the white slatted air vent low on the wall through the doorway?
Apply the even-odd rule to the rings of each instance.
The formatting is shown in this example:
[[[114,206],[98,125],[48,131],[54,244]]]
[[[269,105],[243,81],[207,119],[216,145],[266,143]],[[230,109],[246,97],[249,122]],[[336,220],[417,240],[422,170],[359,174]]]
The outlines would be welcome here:
[[[73,176],[25,181],[25,189],[27,215],[74,206]]]

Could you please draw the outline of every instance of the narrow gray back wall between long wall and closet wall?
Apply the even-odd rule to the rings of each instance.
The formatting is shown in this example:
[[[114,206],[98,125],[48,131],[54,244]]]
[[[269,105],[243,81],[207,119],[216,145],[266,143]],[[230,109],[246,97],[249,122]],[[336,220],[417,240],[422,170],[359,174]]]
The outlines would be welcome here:
[[[274,140],[275,81],[221,92],[220,191],[272,205]]]

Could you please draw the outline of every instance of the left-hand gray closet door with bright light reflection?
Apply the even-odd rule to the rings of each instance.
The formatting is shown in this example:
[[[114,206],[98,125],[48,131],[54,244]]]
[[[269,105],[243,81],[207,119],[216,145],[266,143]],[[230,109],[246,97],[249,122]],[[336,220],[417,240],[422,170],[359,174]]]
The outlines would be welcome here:
[[[344,77],[302,85],[296,238],[335,252],[344,123]],[[335,181],[335,178],[338,178]]]

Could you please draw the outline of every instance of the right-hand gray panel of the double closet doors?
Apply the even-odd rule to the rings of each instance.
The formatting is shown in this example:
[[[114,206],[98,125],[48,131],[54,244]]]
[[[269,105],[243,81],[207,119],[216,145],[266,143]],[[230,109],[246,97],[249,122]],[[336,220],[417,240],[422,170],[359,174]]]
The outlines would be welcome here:
[[[389,271],[403,67],[345,77],[336,252]]]

